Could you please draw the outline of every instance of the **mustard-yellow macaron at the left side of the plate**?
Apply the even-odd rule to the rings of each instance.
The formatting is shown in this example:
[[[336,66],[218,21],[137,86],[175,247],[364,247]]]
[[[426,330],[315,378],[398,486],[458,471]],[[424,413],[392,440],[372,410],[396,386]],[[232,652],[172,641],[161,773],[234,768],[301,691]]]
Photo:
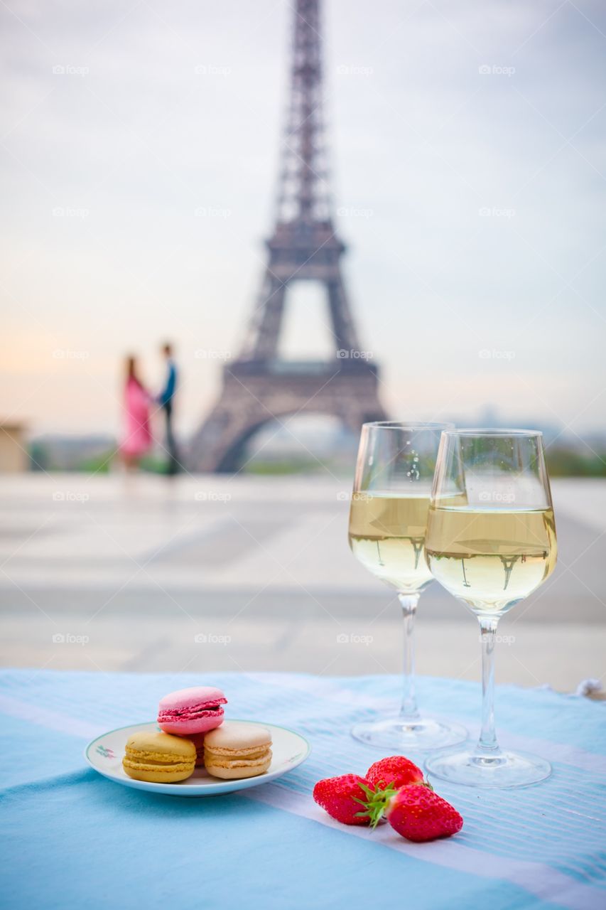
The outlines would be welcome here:
[[[180,736],[140,730],[126,740],[122,767],[136,781],[176,784],[194,773],[196,746]]]

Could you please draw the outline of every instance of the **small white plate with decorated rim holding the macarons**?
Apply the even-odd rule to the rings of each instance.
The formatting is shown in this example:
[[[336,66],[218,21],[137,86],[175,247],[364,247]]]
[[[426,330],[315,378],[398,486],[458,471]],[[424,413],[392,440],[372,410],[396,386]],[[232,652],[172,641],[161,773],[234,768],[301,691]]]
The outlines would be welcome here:
[[[126,740],[139,730],[159,730],[155,721],[118,727],[117,730],[110,730],[102,736],[97,736],[86,746],[85,758],[95,771],[125,787],[135,787],[136,790],[147,790],[149,793],[171,796],[216,796],[275,781],[277,777],[292,771],[298,764],[304,762],[311,752],[308,741],[294,730],[288,730],[287,727],[277,727],[273,723],[260,721],[232,721],[231,718],[229,723],[260,723],[271,733],[273,757],[266,773],[258,774],[257,777],[242,777],[233,781],[224,781],[218,777],[211,777],[204,768],[196,768],[187,781],[179,781],[178,784],[151,784],[148,781],[135,781],[132,777],[128,777],[122,767]]]

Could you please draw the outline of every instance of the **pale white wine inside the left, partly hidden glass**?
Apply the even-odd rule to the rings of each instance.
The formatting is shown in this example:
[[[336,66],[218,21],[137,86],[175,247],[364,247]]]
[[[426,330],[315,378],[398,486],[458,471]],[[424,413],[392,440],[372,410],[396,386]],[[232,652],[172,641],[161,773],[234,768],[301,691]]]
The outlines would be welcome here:
[[[354,493],[349,546],[362,565],[404,593],[419,593],[432,581],[423,545],[429,494]]]

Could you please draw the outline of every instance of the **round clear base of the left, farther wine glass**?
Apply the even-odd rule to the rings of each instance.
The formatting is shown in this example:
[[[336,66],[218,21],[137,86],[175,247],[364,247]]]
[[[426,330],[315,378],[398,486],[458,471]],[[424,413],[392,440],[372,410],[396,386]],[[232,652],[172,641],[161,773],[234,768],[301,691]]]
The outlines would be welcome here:
[[[406,754],[407,751],[443,749],[463,743],[468,734],[460,723],[442,723],[433,717],[396,716],[356,723],[351,735],[360,743],[394,754]]]

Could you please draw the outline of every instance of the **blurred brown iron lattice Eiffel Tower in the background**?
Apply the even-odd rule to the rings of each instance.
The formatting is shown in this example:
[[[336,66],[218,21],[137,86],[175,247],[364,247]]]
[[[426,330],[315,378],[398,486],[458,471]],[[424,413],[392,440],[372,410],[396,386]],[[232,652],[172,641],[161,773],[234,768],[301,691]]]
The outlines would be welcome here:
[[[358,431],[383,420],[378,369],[365,358],[341,274],[345,252],[333,223],[322,117],[319,0],[297,0],[290,99],[278,183],[278,210],[267,241],[268,265],[244,345],[227,363],[217,404],[192,440],[190,466],[235,471],[247,440],[270,420],[299,413],[338,417]],[[287,290],[295,281],[323,285],[334,360],[278,357]]]

